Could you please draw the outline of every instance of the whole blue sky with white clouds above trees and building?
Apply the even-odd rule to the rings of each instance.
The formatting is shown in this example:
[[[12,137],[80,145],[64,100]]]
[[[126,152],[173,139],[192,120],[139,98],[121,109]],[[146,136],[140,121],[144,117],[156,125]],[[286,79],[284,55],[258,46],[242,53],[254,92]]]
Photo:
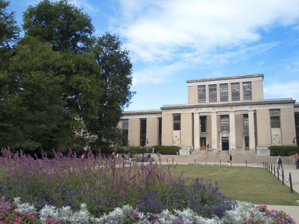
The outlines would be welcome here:
[[[18,24],[29,5],[11,0]],[[264,74],[264,98],[299,101],[299,1],[72,0],[96,36],[116,34],[130,50],[126,110],[187,103],[187,79]]]

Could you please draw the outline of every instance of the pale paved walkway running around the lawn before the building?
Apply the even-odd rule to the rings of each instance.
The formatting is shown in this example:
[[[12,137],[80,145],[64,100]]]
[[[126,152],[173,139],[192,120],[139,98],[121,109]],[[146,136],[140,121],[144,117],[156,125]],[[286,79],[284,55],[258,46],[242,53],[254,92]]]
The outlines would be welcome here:
[[[154,154],[151,154],[154,155]],[[158,162],[158,157],[154,155],[156,161]],[[289,179],[289,173],[292,175],[292,186],[294,194],[299,193],[299,170],[296,169],[293,157],[282,157],[283,159],[283,170],[285,179]],[[167,161],[178,164],[198,164],[198,165],[230,165],[227,161],[229,160],[229,155],[217,155],[209,152],[208,154],[199,155],[161,155],[161,163],[167,164]],[[271,164],[272,168],[277,171],[277,157],[273,156],[238,156],[233,155],[232,165],[233,166],[245,166],[247,160],[247,166],[250,167],[263,167],[263,162],[268,162]],[[271,172],[271,170],[270,170]],[[281,174],[281,168],[279,170]],[[280,177],[281,180],[281,177]],[[285,182],[286,185],[290,186],[289,182]],[[290,193],[291,194],[291,193]],[[285,211],[299,224],[299,206],[285,206],[285,205],[267,205],[268,209],[275,209],[278,211]]]

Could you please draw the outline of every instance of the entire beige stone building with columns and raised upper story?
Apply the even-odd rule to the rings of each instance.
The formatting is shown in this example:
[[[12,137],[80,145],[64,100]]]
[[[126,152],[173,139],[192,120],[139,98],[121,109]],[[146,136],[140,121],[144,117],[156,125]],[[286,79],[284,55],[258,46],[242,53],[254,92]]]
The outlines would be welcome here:
[[[263,78],[258,73],[189,79],[187,104],[124,111],[123,144],[257,155],[269,155],[271,145],[299,145],[299,103],[264,99]]]

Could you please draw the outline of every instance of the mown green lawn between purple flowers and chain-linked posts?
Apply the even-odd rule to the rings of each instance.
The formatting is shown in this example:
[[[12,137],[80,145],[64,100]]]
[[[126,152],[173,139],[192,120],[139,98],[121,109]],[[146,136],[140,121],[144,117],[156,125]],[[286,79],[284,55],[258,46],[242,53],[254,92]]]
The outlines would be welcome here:
[[[203,177],[204,181],[216,181],[219,191],[231,200],[263,205],[298,205],[296,200],[299,200],[299,194],[290,193],[289,186],[282,186],[281,180],[278,181],[264,168],[177,165],[178,176],[182,170],[184,179]]]

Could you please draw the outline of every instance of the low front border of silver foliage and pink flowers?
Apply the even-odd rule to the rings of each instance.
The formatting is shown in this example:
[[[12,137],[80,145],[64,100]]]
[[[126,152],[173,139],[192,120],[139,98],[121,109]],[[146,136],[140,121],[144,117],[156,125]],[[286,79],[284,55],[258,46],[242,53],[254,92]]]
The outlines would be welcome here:
[[[2,198],[0,202],[0,223],[81,223],[81,224],[117,224],[117,223],[140,223],[140,224],[160,224],[160,223],[196,223],[196,224],[257,224],[257,223],[295,223],[283,211],[268,210],[265,205],[254,206],[248,202],[237,202],[230,210],[225,211],[223,217],[217,216],[211,218],[201,217],[190,208],[183,210],[168,209],[161,213],[140,212],[129,205],[115,208],[108,214],[100,217],[94,217],[86,209],[86,205],[82,204],[80,210],[73,212],[69,206],[60,209],[46,205],[39,212],[36,211],[34,205],[29,203],[20,203],[20,198],[15,198],[13,204],[4,202]],[[58,220],[58,221],[57,221]]]

